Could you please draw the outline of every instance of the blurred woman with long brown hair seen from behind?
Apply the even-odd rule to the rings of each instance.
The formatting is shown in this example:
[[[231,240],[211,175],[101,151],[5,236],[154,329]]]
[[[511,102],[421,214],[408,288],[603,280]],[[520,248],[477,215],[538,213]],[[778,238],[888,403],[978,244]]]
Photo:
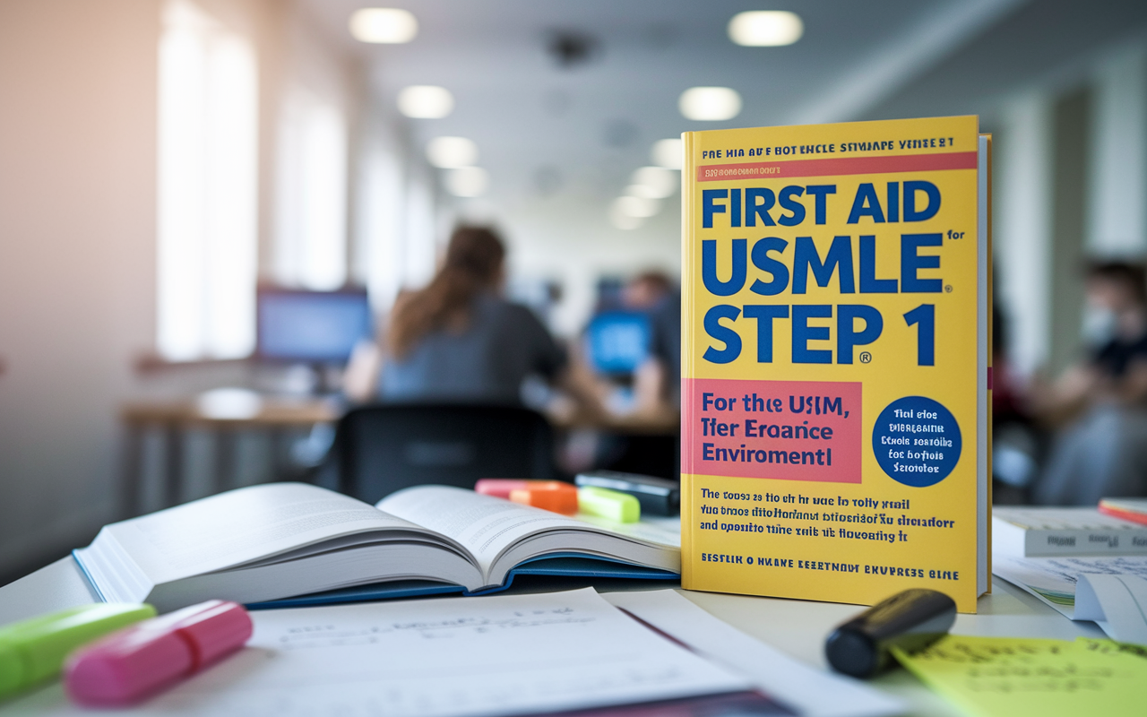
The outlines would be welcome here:
[[[526,376],[562,376],[562,346],[532,311],[500,296],[505,257],[492,231],[454,232],[429,286],[395,304],[380,398],[521,404]]]

